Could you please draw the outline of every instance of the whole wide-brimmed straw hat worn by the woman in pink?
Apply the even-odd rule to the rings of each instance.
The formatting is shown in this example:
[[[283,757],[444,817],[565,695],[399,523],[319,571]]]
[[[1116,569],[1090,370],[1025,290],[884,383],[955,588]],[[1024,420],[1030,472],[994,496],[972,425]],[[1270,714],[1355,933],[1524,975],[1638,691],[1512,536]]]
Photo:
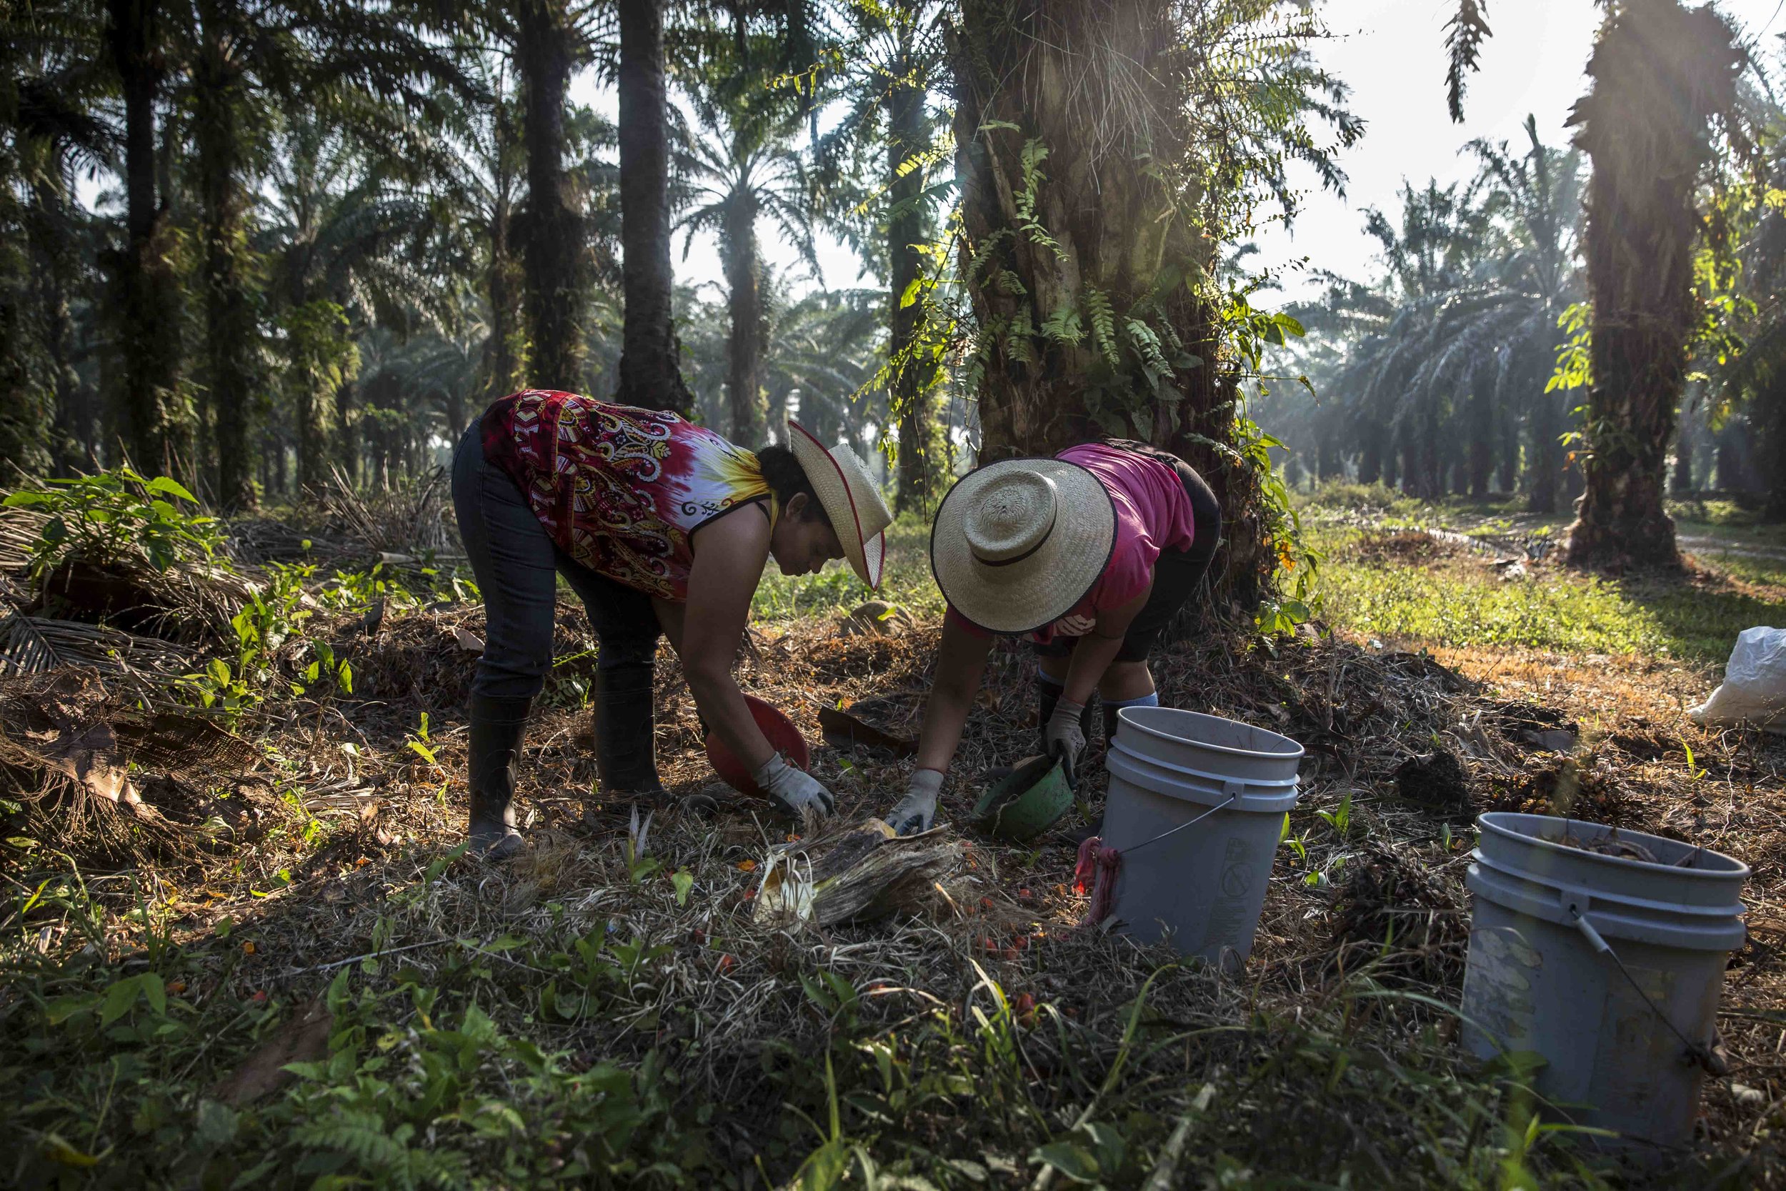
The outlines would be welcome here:
[[[1114,546],[1116,505],[1098,477],[1063,459],[1006,459],[943,496],[931,571],[981,629],[1034,632],[1086,598]]]

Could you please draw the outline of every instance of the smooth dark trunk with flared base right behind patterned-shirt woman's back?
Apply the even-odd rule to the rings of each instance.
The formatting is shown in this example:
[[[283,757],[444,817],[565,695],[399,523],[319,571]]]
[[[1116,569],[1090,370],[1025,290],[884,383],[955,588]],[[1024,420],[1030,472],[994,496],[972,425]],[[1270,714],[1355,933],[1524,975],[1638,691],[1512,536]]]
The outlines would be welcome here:
[[[618,400],[693,414],[672,307],[663,0],[620,0],[620,252]]]

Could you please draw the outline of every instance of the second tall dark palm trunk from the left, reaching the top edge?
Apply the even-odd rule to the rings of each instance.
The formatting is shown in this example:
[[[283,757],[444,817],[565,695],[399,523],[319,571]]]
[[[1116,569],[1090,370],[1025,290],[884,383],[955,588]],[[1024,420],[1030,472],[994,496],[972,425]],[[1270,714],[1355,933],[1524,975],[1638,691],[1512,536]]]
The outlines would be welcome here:
[[[205,391],[216,436],[216,498],[227,511],[254,504],[250,412],[259,318],[243,275],[248,252],[241,173],[241,66],[230,61],[234,0],[200,4],[193,86],[198,198],[204,216]]]

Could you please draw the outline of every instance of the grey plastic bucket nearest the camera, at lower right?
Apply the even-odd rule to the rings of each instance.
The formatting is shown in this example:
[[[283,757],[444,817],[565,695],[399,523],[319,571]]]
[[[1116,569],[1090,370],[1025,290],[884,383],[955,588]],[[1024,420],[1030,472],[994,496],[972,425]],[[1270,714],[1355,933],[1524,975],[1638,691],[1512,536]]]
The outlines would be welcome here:
[[[1688,1143],[1704,1070],[1682,1037],[1711,1046],[1725,961],[1743,945],[1748,868],[1643,832],[1618,839],[1657,864],[1556,843],[1613,830],[1579,820],[1497,811],[1477,825],[1465,1046],[1479,1059],[1541,1055],[1532,1086],[1563,1120]]]

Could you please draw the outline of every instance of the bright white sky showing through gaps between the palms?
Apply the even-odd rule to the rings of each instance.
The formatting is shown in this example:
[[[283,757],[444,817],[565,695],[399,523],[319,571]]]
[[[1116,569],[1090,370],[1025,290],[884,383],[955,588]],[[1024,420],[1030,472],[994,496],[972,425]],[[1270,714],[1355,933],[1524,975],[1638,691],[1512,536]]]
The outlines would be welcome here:
[[[1723,0],[1720,5],[1740,29],[1765,41],[1786,32],[1786,0]],[[1375,270],[1377,241],[1365,234],[1365,209],[1393,211],[1402,179],[1423,184],[1456,182],[1473,170],[1461,148],[1475,139],[1523,141],[1527,112],[1538,118],[1550,145],[1568,137],[1563,121],[1586,89],[1588,52],[1598,27],[1593,0],[1490,0],[1495,36],[1482,50],[1481,70],[1465,96],[1465,123],[1454,125],[1445,107],[1445,20],[1456,0],[1327,0],[1334,37],[1314,48],[1316,59],[1352,87],[1350,109],[1366,123],[1365,139],[1340,155],[1348,175],[1345,196],[1320,191],[1311,171],[1298,175],[1306,189],[1302,211],[1289,230],[1263,229],[1261,254],[1252,262],[1284,268],[1284,291],[1300,295],[1298,262],[1368,279]],[[591,82],[573,87],[575,98],[614,112],[613,95]],[[777,268],[804,268],[793,252],[763,229],[764,255]],[[868,284],[857,279],[855,257],[830,241],[820,248],[823,282],[830,287]],[[679,280],[705,286],[722,298],[718,252],[711,239],[695,239],[688,259],[675,245]]]

